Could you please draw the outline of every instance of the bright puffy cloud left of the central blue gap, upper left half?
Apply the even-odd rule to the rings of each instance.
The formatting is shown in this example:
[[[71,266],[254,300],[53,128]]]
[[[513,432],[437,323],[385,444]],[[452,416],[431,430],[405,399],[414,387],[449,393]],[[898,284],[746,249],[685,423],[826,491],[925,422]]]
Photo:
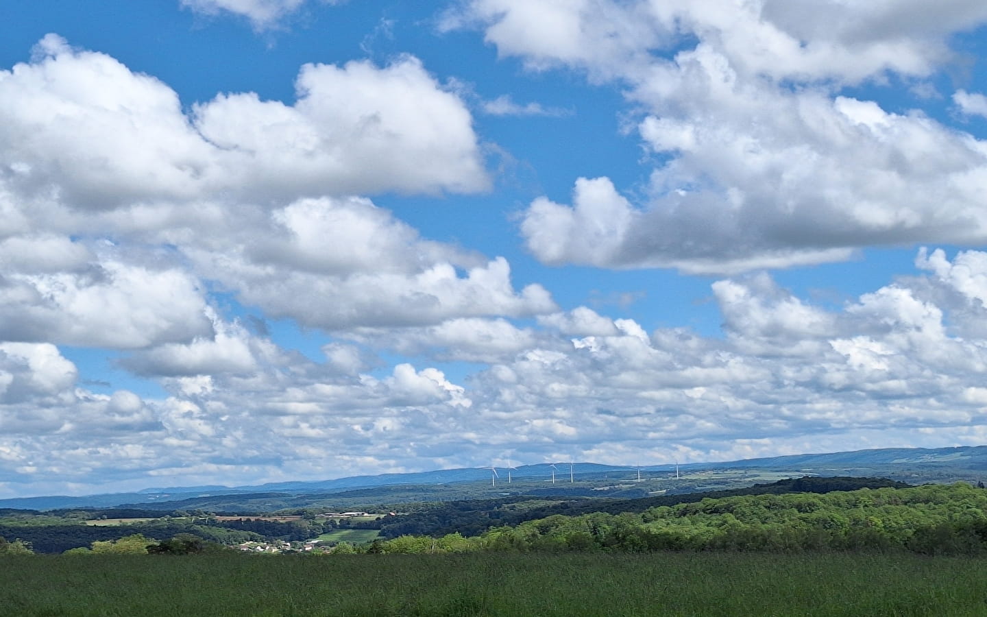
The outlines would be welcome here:
[[[384,68],[306,64],[296,89],[293,107],[242,94],[195,108],[202,135],[234,153],[224,161],[230,175],[310,194],[487,188],[469,112],[417,58]]]

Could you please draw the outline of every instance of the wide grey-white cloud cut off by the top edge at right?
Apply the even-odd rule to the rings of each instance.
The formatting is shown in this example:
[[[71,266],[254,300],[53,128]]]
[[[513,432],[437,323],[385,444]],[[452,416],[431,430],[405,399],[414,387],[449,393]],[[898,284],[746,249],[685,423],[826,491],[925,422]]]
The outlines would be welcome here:
[[[949,58],[950,34],[985,20],[977,0],[472,0],[444,27],[480,27],[499,53],[532,68],[568,65],[598,78],[642,79],[649,51],[692,36],[746,75],[856,83],[884,72],[924,76]]]

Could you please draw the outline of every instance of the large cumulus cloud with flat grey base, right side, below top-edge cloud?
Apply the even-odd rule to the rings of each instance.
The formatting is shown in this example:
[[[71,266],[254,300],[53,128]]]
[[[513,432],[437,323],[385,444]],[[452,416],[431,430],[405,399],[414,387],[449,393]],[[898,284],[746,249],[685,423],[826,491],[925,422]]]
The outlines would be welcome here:
[[[651,176],[652,201],[635,206],[606,178],[580,179],[570,206],[532,202],[528,248],[553,265],[734,272],[840,261],[875,244],[987,238],[975,196],[987,179],[982,142],[855,99],[756,100],[756,111],[743,102],[743,119],[714,124],[648,116],[645,143],[672,157]]]

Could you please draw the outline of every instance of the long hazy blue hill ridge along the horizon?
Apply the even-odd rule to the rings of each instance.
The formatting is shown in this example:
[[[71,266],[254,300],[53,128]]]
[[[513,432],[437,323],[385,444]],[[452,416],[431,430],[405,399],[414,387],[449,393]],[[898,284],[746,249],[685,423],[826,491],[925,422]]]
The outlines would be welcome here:
[[[683,463],[681,473],[695,474],[706,470],[777,470],[791,473],[792,476],[884,476],[906,482],[947,482],[949,480],[978,478],[987,476],[987,446],[962,446],[951,448],[883,448],[833,452],[826,454],[797,454],[769,458],[745,459],[714,463]],[[573,463],[571,474],[580,482],[618,479],[633,480],[639,468],[631,466],[601,465],[597,463]],[[674,475],[674,465],[648,465],[640,468],[642,473],[654,476]],[[498,468],[500,486],[506,476],[504,468]],[[510,470],[513,479],[521,482],[551,483],[553,469],[549,463],[521,465]],[[489,468],[440,469],[409,474],[381,474],[376,476],[352,476],[335,480],[315,482],[278,482],[258,486],[223,487],[172,487],[145,489],[136,493],[91,495],[84,497],[51,496],[0,500],[0,507],[21,509],[56,509],[83,507],[130,507],[149,506],[154,509],[182,509],[190,507],[208,508],[231,501],[263,505],[266,501],[285,501],[292,496],[332,496],[347,494],[356,498],[355,492],[383,489],[386,487],[407,487],[409,491],[425,491],[425,487],[466,485],[467,483],[489,483]],[[542,484],[530,488],[529,494],[564,494],[572,489],[564,486],[569,482],[569,463],[555,464],[555,476],[559,486],[547,487]],[[748,483],[749,484],[749,483]],[[420,488],[420,489],[419,489]],[[583,487],[578,492],[587,493]],[[394,492],[401,494],[400,491]],[[407,493],[407,492],[406,492]],[[440,493],[440,492],[439,492]],[[225,497],[228,499],[220,500]],[[396,495],[397,497],[397,495]],[[600,496],[602,497],[602,496]],[[402,498],[406,499],[406,498]],[[441,501],[436,497],[436,501]],[[305,500],[287,500],[299,506]],[[230,509],[230,507],[216,508]]]

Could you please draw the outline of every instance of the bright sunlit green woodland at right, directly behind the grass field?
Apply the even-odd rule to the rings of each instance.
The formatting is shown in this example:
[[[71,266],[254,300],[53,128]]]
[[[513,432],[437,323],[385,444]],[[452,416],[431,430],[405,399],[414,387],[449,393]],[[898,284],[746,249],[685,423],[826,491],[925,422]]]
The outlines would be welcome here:
[[[400,536],[362,550],[469,551],[856,551],[987,554],[987,491],[967,484],[826,494],[737,496],[594,512],[495,527],[477,537]],[[353,547],[344,547],[351,552]]]

